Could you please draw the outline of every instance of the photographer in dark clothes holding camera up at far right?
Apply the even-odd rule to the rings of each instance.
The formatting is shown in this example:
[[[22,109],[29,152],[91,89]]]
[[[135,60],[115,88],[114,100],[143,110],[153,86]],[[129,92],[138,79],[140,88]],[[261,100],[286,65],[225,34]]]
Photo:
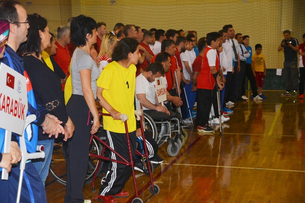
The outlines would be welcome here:
[[[284,30],[284,38],[278,47],[278,51],[284,51],[284,76],[286,84],[286,92],[281,96],[295,97],[299,84],[299,72],[298,72],[298,55],[299,41],[296,38],[290,36],[290,30]],[[283,49],[284,48],[284,49]],[[290,78],[292,79],[292,91],[290,86]]]

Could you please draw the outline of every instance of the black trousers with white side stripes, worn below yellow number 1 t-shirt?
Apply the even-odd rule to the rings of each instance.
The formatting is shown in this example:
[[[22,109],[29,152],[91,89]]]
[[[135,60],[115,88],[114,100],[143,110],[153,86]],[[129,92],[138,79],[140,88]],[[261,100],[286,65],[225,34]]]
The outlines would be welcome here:
[[[107,143],[109,146],[118,152],[127,161],[130,161],[129,152],[127,148],[127,137],[125,133],[115,133],[106,130]],[[136,149],[136,133],[135,131],[129,133],[130,146],[132,158],[135,160],[135,149]],[[113,152],[110,152],[110,156],[113,159],[122,161]],[[87,160],[88,161],[88,160]],[[106,174],[106,181],[102,184],[99,190],[99,194],[103,196],[118,194],[123,190],[125,183],[131,175],[131,166],[119,164],[116,162],[109,162],[109,170]]]

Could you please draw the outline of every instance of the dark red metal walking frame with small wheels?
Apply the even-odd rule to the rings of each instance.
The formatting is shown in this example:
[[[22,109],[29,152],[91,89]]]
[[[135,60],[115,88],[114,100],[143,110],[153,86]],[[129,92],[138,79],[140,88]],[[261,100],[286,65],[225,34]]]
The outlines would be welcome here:
[[[110,114],[108,113],[99,113],[99,117],[100,116],[111,116]],[[140,121],[142,120],[142,115],[139,115],[140,116]],[[102,160],[107,160],[107,161],[111,161],[111,162],[116,162],[116,163],[119,163],[119,164],[124,164],[126,166],[131,166],[131,170],[132,170],[132,177],[133,177],[133,180],[134,180],[134,185],[135,185],[135,195],[136,195],[136,198],[132,200],[132,203],[141,203],[143,202],[142,199],[138,198],[138,190],[137,190],[137,183],[136,183],[136,180],[135,180],[135,167],[134,167],[134,161],[132,159],[132,153],[131,153],[131,147],[130,147],[130,139],[129,139],[129,133],[128,133],[128,127],[127,127],[127,120],[124,121],[124,124],[125,124],[125,130],[126,130],[126,137],[127,137],[127,147],[128,147],[128,152],[129,152],[129,158],[131,161],[127,161],[125,158],[123,158],[120,154],[118,154],[116,151],[114,151],[111,147],[108,146],[107,144],[107,140],[106,141],[102,141],[98,136],[96,136],[95,134],[91,135],[90,137],[90,143],[92,142],[92,139],[95,138],[97,141],[99,141],[103,146],[104,148],[102,149],[102,153],[101,155],[96,155],[96,154],[92,154],[92,153],[89,153],[89,156],[93,156],[93,157],[96,157],[96,158],[99,158],[99,159],[102,159]],[[145,140],[145,134],[144,134],[144,127],[143,127],[143,123],[140,122],[141,124],[141,131],[142,131],[142,137],[143,137],[143,145],[144,145],[144,154],[142,154],[141,152],[139,152],[138,150],[136,150],[136,155],[140,155],[142,157],[145,157],[146,160],[147,160],[147,166],[148,166],[148,171],[149,171],[149,178],[150,178],[150,183],[151,183],[151,186],[149,187],[149,192],[152,194],[152,195],[156,195],[159,193],[160,189],[159,187],[155,184],[153,184],[153,180],[152,180],[152,174],[151,174],[151,166],[150,164],[148,163],[148,152],[147,152],[147,145],[146,145],[146,140]],[[112,158],[108,158],[108,157],[105,157],[104,156],[104,152],[105,152],[105,148],[109,149],[111,152],[113,152],[115,155],[117,155],[120,159],[122,159],[123,161],[119,161],[119,160],[116,160],[116,159],[112,159]],[[100,163],[98,163],[98,166],[97,166],[97,169],[99,168],[100,166]],[[145,163],[143,163],[145,164]],[[94,187],[94,181],[95,181],[95,178],[96,176],[98,175],[98,170],[95,170],[95,173],[94,173],[94,176],[93,176],[93,180],[92,180],[92,191],[94,192],[95,191],[95,187]]]

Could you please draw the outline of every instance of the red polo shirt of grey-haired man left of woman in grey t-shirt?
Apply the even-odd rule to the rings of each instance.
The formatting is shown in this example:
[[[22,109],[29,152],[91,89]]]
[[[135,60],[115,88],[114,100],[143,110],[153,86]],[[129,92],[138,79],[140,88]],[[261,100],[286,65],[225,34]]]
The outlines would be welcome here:
[[[62,47],[58,42],[56,42],[57,50],[56,55],[53,55],[55,62],[59,65],[59,67],[63,70],[64,73],[69,77],[69,66],[71,62],[71,57],[69,54],[68,46]],[[62,90],[65,90],[65,83],[61,84]]]

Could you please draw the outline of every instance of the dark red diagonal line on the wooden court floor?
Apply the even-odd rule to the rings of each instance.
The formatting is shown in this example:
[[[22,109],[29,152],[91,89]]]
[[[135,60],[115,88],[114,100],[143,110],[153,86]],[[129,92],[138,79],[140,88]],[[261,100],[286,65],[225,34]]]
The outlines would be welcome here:
[[[199,140],[201,137],[197,137],[196,140],[194,140],[188,147],[182,151],[174,160],[172,160],[170,163],[165,166],[163,170],[161,170],[156,176],[152,177],[152,181],[156,181],[160,176],[165,173],[174,163],[176,163],[186,152],[188,152]],[[148,187],[150,186],[150,181],[146,183],[140,190],[138,190],[138,196],[140,196]],[[131,202],[134,198],[136,198],[135,194],[129,198],[127,202]]]

